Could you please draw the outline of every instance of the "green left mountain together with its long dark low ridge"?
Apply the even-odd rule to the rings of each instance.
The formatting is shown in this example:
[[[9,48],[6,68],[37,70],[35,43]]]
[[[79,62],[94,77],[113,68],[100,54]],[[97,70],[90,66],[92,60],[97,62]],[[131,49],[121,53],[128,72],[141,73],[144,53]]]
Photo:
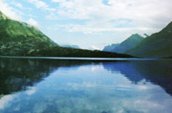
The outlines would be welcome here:
[[[0,56],[130,57],[129,55],[60,47],[37,28],[0,12]]]

